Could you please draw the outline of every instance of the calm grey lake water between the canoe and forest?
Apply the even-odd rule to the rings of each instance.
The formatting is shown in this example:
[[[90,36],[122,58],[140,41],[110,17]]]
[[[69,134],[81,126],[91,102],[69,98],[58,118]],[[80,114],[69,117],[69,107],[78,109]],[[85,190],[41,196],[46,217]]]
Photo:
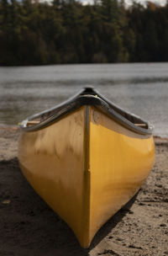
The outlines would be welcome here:
[[[88,85],[168,137],[168,63],[0,67],[0,125],[17,125]]]

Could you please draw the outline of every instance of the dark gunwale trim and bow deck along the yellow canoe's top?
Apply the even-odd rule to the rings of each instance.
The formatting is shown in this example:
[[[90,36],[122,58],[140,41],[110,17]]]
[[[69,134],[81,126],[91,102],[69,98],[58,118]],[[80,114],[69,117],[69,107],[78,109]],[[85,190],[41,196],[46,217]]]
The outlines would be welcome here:
[[[71,99],[66,100],[62,104],[55,106],[54,108],[47,109],[36,115],[30,116],[27,120],[22,121],[20,127],[23,131],[37,131],[45,128],[46,126],[54,123],[56,120],[71,111],[79,109],[82,105],[92,105],[102,111],[105,115],[108,115],[113,120],[123,125],[130,131],[134,131],[141,135],[152,134],[153,127],[147,122],[139,118],[139,116],[131,114],[124,109],[113,104],[113,102],[106,99],[102,94],[98,93],[93,88],[84,88]],[[28,126],[28,122],[40,118],[39,122],[34,125]],[[137,123],[135,125],[134,123]],[[140,127],[143,124],[144,127]]]

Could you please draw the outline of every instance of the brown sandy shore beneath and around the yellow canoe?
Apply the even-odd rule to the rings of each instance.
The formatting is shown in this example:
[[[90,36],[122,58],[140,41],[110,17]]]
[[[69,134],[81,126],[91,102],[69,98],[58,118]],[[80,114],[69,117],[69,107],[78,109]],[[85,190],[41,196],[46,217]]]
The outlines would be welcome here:
[[[0,255],[168,255],[168,140],[155,138],[155,167],[139,194],[82,249],[71,229],[18,167],[17,129],[0,129]]]

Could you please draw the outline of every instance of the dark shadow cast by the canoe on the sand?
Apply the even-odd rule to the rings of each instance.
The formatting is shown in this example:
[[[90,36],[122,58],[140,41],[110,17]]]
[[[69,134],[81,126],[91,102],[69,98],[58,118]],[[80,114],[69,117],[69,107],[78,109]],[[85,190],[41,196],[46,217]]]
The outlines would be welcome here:
[[[34,192],[18,167],[18,159],[0,162],[0,255],[87,256],[123,219],[136,195],[83,249],[71,229]]]

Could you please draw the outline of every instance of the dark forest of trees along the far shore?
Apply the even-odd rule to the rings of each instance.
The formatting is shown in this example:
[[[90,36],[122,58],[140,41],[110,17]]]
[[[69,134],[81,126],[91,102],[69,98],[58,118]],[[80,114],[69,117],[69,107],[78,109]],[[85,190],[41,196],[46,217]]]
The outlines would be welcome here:
[[[0,0],[0,65],[168,61],[168,2]]]

